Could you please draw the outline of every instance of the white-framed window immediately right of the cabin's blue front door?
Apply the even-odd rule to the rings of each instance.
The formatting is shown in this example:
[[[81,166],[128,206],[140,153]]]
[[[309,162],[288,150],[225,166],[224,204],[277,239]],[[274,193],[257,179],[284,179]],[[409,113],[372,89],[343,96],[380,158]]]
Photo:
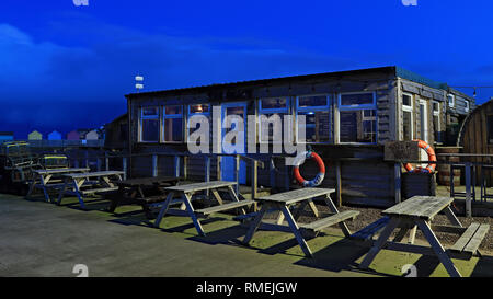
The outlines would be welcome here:
[[[287,97],[270,97],[262,99],[259,101],[259,116],[260,117],[260,131],[259,131],[259,140],[260,142],[268,142],[274,140],[274,129],[276,131],[283,131],[284,127],[284,116],[289,113],[289,101]],[[275,128],[274,119],[275,116],[278,116],[280,123],[277,124],[280,127]],[[276,140],[282,141],[282,136],[276,136]]]

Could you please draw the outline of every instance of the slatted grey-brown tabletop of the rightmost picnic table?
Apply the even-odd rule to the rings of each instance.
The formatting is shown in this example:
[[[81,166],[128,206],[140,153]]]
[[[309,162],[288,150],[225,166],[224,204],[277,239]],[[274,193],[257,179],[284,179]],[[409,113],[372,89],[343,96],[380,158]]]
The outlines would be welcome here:
[[[399,217],[417,217],[431,220],[435,215],[445,209],[454,202],[451,197],[413,196],[381,214]]]

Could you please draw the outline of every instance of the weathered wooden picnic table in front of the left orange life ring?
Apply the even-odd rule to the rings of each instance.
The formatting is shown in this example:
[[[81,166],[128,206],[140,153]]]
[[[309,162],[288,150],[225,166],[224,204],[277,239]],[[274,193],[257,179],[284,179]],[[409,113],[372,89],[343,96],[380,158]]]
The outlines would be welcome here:
[[[335,207],[334,203],[331,199],[330,194],[334,193],[333,188],[300,188],[294,189],[284,193],[277,193],[274,195],[260,197],[255,199],[259,204],[262,205],[261,210],[255,215],[254,220],[251,222],[249,231],[243,239],[244,244],[249,244],[253,238],[255,231],[261,228],[262,219],[267,211],[282,211],[284,217],[279,217],[277,219],[277,223],[271,226],[273,229],[279,229],[284,231],[291,231],[295,234],[298,244],[303,251],[305,255],[308,257],[312,257],[312,253],[310,248],[306,242],[306,237],[317,235],[323,228],[339,225],[346,237],[351,235],[351,231],[345,225],[345,220],[354,219],[359,211],[355,210],[346,210],[340,212]],[[307,205],[310,206],[316,217],[319,217],[318,209],[313,204],[312,199],[316,197],[323,197],[323,200],[329,206],[329,209],[332,214],[329,217],[321,218],[311,223],[298,223],[297,220],[301,215],[301,211],[305,209]],[[296,204],[300,204],[298,208],[294,209],[291,212],[290,208],[294,208]],[[284,218],[287,220],[288,228],[282,226]],[[288,230],[287,230],[288,229]]]

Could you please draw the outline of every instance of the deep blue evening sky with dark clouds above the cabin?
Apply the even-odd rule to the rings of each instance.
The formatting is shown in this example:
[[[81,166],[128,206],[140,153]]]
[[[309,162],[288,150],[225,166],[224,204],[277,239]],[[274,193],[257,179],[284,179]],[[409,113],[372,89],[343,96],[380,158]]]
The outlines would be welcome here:
[[[416,1],[2,0],[0,130],[99,127],[137,72],[146,91],[395,65],[493,85],[493,1]]]

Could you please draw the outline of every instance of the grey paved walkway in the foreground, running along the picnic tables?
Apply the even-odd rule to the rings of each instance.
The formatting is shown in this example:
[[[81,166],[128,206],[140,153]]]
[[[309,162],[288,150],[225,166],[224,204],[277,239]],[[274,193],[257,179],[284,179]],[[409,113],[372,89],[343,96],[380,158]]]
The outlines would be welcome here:
[[[90,276],[386,276],[421,260],[386,252],[376,258],[378,273],[362,272],[355,263],[367,249],[335,232],[309,241],[316,251],[309,260],[284,232],[261,231],[253,248],[244,248],[238,240],[245,228],[231,220],[204,221],[208,234],[200,238],[187,218],[167,217],[160,230],[146,223],[139,207],[117,209],[115,217],[102,211],[106,202],[88,200],[88,211],[76,203],[58,207],[0,195],[0,276],[76,276],[76,264],[87,265]],[[491,260],[479,264],[459,266],[465,275],[493,275]]]

